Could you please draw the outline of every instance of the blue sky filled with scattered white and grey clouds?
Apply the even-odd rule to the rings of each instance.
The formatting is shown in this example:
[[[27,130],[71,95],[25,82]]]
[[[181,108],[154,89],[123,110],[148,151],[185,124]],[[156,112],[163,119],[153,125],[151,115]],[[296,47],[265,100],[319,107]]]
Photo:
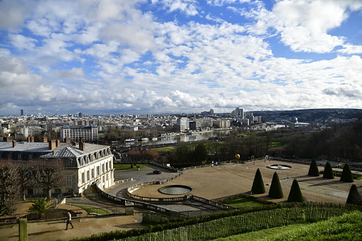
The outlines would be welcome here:
[[[0,115],[362,108],[362,0],[0,0]]]

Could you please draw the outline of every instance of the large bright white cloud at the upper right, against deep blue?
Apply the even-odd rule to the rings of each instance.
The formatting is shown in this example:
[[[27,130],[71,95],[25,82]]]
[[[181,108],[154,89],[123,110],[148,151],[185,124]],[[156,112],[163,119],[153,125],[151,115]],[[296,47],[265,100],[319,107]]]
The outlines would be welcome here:
[[[296,52],[328,53],[343,45],[342,36],[331,36],[328,32],[348,18],[349,9],[361,9],[362,1],[277,1],[272,12],[252,11],[258,19],[255,33],[265,33],[275,28],[281,41]],[[260,10],[260,5],[258,6]],[[259,32],[257,32],[259,30]]]

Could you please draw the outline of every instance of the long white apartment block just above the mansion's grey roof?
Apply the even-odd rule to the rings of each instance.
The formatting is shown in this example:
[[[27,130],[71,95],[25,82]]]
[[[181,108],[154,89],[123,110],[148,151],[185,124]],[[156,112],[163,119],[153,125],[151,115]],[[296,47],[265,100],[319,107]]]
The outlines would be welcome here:
[[[64,125],[60,128],[60,139],[69,138],[71,141],[97,141],[98,127],[92,124],[90,127]]]

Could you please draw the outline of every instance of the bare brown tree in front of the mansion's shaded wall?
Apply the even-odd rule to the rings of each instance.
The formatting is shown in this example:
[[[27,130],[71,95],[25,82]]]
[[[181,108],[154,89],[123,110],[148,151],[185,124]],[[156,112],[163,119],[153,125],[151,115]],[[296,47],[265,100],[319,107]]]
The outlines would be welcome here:
[[[33,175],[41,188],[46,189],[51,198],[51,189],[62,186],[64,164],[61,159],[36,159],[32,161]]]

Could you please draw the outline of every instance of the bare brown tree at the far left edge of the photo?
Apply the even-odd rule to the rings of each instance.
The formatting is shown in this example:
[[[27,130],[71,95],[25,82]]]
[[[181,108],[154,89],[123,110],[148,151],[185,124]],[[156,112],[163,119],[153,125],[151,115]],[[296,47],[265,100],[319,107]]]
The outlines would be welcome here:
[[[11,160],[0,161],[0,215],[14,213],[20,196],[18,165]]]

